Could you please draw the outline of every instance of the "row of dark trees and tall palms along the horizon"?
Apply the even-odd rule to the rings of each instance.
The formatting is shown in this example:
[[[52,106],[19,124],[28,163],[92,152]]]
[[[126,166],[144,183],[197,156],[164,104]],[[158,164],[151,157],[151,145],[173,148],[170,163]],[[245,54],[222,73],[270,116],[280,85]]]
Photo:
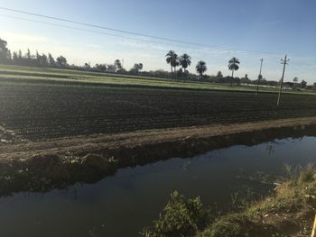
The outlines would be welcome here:
[[[259,75],[258,79],[251,80],[245,75],[245,77],[234,77],[234,72],[239,68],[240,61],[237,58],[232,58],[228,60],[228,69],[231,70],[231,76],[224,77],[221,71],[218,71],[216,76],[206,75],[205,72],[208,70],[207,64],[203,60],[199,60],[195,66],[195,71],[198,74],[190,73],[188,68],[191,66],[191,56],[187,53],[183,53],[181,56],[174,50],[170,50],[165,55],[166,62],[171,67],[171,72],[165,71],[163,69],[143,71],[143,63],[135,63],[135,65],[126,70],[123,67],[121,60],[116,59],[112,64],[99,64],[90,66],[90,63],[86,62],[83,66],[70,65],[68,60],[59,56],[54,59],[51,53],[47,55],[40,54],[37,50],[35,54],[32,54],[30,50],[25,53],[22,50],[14,51],[7,49],[7,42],[0,38],[0,63],[2,64],[13,64],[20,66],[31,66],[31,67],[49,67],[49,68],[70,68],[86,71],[96,71],[96,72],[109,72],[109,73],[121,73],[121,74],[132,74],[132,75],[142,75],[147,77],[169,77],[171,79],[181,79],[181,80],[200,80],[211,83],[221,83],[221,84],[234,84],[239,85],[241,83],[254,84],[256,85],[259,80],[259,85],[272,86],[278,85],[277,81],[266,80],[265,77]],[[178,68],[179,67],[179,68]],[[177,69],[178,68],[178,69]],[[307,86],[307,83],[302,80],[298,83],[298,78],[294,77],[293,82],[285,82],[284,87],[292,87],[293,89],[299,88],[314,88],[316,89],[316,83],[311,86]]]

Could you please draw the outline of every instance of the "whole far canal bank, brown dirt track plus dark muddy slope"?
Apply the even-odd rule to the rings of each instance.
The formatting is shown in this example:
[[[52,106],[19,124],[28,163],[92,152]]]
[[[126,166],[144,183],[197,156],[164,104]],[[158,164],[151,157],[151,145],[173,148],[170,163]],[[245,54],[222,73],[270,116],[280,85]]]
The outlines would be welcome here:
[[[119,168],[305,135],[316,135],[316,117],[2,143],[0,195],[96,182]]]

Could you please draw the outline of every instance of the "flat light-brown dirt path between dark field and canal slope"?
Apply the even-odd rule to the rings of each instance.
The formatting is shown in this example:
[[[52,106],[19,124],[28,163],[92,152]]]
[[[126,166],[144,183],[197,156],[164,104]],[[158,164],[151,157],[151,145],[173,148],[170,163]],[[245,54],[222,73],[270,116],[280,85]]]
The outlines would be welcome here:
[[[233,123],[201,127],[174,128],[126,132],[112,135],[90,135],[60,138],[47,141],[23,141],[14,144],[0,143],[0,160],[27,159],[36,154],[62,155],[65,152],[85,153],[98,150],[119,150],[159,143],[209,139],[211,137],[255,132],[284,127],[316,125],[316,116],[282,119],[258,123]]]

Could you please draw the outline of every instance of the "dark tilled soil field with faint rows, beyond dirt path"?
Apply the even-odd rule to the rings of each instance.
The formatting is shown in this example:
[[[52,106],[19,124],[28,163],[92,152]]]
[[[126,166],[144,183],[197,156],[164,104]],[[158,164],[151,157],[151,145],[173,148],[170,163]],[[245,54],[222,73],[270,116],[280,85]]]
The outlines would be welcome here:
[[[109,87],[0,87],[0,126],[28,140],[316,115],[316,96]]]

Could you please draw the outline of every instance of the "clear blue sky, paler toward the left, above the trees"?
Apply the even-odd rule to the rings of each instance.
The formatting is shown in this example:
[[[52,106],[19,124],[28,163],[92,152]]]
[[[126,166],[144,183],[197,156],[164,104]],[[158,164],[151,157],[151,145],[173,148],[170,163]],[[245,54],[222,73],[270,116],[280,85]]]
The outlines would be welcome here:
[[[191,55],[188,69],[192,73],[196,63],[204,60],[208,75],[220,70],[224,76],[230,75],[228,60],[236,57],[240,68],[235,75],[247,74],[252,79],[256,79],[263,58],[262,74],[268,80],[281,78],[281,59],[287,54],[290,62],[285,81],[298,77],[309,84],[316,82],[314,0],[1,0],[0,7],[174,40],[0,9],[0,38],[12,51],[51,52],[55,58],[63,55],[76,65],[110,64],[121,59],[126,69],[142,62],[144,70],[170,70],[165,55],[175,50],[178,55]]]

